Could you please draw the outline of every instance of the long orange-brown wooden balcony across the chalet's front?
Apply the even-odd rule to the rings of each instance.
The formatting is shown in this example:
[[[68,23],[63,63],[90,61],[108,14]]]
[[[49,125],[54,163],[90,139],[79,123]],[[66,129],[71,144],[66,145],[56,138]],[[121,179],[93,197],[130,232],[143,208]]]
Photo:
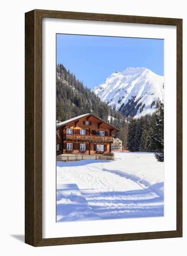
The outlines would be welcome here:
[[[113,142],[112,136],[97,136],[97,135],[77,135],[77,134],[64,134],[64,141],[92,141],[92,142]]]

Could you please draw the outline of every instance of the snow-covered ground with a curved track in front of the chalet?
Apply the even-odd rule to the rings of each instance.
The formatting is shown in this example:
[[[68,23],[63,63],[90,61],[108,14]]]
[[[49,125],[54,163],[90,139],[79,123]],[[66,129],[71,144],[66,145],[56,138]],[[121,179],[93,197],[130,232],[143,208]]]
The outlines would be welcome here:
[[[115,156],[57,162],[58,222],[163,216],[163,163],[152,153]]]

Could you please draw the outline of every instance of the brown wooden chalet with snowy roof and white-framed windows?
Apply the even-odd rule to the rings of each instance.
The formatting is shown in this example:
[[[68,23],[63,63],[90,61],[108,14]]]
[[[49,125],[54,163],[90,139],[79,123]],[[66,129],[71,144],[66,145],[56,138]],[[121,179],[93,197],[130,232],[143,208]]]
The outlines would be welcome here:
[[[93,114],[57,123],[57,155],[110,155],[113,135],[119,129]]]

